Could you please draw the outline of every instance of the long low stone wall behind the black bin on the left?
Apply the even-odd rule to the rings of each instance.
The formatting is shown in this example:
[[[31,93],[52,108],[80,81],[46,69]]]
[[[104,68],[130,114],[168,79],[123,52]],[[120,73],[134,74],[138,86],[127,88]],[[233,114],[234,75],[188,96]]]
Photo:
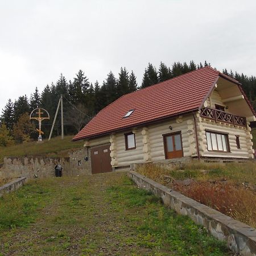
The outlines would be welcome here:
[[[4,158],[4,163],[0,169],[0,177],[27,177],[38,178],[55,176],[57,163],[63,166],[63,176],[71,176],[69,158],[46,158],[46,157],[15,157],[8,156]]]

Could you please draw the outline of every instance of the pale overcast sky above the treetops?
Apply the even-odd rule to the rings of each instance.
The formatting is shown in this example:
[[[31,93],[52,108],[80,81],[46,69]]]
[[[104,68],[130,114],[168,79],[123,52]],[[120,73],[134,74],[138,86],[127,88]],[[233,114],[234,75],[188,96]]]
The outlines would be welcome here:
[[[256,75],[255,13],[255,0],[0,0],[0,108],[79,69],[101,83],[126,67],[139,85],[148,62]]]

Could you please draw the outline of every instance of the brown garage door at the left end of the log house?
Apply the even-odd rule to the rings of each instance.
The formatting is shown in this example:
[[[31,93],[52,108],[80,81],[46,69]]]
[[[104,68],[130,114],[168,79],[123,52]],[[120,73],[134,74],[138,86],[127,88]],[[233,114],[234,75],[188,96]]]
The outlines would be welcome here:
[[[112,171],[109,147],[110,144],[93,147],[90,149],[92,159],[92,174],[101,174],[102,172]]]

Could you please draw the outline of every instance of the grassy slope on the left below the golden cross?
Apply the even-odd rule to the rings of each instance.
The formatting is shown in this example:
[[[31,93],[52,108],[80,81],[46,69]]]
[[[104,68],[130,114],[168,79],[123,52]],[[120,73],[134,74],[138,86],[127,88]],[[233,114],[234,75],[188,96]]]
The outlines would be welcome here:
[[[43,143],[28,142],[9,147],[0,147],[0,163],[3,163],[4,156],[68,156],[68,152],[73,148],[82,147],[83,141],[72,142],[73,136],[56,137]]]

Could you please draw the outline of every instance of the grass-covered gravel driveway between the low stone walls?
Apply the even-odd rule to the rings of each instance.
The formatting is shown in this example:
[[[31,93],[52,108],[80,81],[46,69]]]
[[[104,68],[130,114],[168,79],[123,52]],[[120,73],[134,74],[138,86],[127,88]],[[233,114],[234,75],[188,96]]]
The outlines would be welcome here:
[[[0,255],[233,255],[124,173],[31,180],[0,199],[0,236]]]

